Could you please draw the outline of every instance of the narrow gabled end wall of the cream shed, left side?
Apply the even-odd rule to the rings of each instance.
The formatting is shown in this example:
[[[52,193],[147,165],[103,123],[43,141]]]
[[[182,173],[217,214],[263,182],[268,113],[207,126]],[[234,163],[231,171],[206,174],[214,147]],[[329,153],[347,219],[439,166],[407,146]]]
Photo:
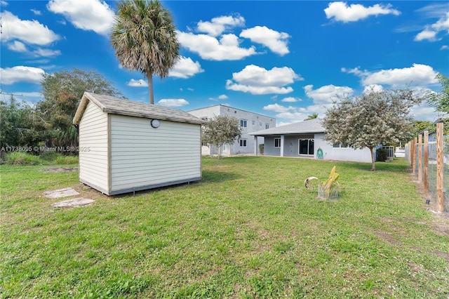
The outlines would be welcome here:
[[[107,114],[91,101],[79,122],[79,147],[79,179],[107,192]]]

